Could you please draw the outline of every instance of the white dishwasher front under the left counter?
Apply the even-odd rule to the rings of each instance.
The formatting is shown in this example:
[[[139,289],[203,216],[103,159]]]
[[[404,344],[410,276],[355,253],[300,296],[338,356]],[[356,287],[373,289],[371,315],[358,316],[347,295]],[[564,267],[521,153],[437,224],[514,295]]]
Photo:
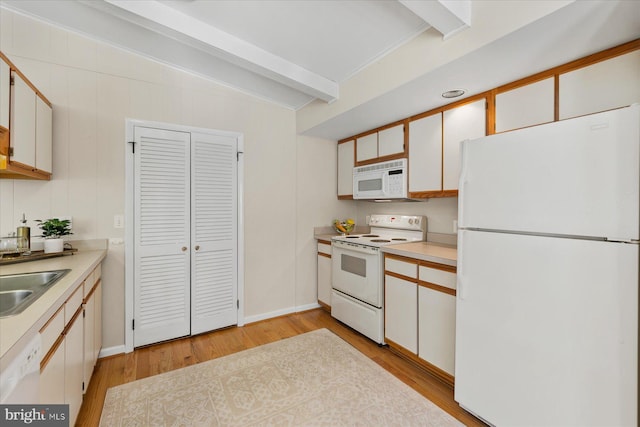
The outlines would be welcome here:
[[[41,353],[40,334],[36,334],[20,354],[8,366],[3,367],[0,373],[0,403],[40,403]]]

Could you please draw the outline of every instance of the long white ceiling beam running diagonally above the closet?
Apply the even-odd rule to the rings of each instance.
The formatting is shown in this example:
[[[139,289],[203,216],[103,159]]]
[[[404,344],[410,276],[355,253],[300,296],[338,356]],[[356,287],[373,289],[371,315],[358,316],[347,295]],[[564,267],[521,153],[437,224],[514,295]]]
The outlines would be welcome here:
[[[326,102],[338,99],[338,83],[313,73],[297,64],[267,52],[238,37],[155,0],[105,0],[130,14],[157,24],[154,30],[166,28],[187,36],[193,46],[238,66],[295,88]],[[184,42],[185,40],[183,40]]]

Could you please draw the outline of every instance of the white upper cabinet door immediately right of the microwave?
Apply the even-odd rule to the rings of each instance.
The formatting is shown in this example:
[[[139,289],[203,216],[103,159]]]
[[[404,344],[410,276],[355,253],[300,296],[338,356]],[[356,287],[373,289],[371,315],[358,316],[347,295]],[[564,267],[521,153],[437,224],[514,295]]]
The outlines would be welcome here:
[[[409,123],[409,191],[442,190],[442,113]]]

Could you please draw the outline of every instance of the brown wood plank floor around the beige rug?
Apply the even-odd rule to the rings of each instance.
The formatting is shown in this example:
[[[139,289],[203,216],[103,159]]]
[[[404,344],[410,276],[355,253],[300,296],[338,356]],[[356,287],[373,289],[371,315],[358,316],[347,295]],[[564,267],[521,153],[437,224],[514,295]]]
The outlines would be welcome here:
[[[162,372],[179,369],[248,348],[327,328],[391,372],[418,393],[468,426],[484,426],[453,400],[453,389],[416,364],[380,347],[322,309],[310,310],[232,327],[191,338],[137,349],[132,353],[100,359],[84,398],[78,426],[97,426],[109,387]]]

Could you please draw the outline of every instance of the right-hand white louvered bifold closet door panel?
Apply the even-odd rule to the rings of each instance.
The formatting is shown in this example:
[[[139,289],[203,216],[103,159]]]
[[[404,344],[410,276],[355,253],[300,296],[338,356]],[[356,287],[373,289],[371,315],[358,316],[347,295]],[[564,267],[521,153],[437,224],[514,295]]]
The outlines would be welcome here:
[[[237,138],[191,134],[191,333],[238,322]]]

